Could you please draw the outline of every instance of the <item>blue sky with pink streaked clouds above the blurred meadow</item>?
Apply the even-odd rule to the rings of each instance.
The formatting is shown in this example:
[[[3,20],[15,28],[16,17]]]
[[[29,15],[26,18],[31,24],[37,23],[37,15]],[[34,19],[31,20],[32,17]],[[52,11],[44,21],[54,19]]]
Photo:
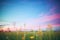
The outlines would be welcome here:
[[[59,0],[5,0],[0,2],[0,24],[15,22],[17,26],[26,24],[30,27],[41,26],[45,29],[48,24],[60,27]]]

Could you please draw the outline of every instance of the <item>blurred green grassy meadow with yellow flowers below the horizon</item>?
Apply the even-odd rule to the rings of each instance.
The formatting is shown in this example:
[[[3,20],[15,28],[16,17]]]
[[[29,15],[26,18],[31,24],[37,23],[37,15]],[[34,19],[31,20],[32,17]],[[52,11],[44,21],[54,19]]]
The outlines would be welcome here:
[[[0,32],[0,40],[60,40],[60,32]]]

